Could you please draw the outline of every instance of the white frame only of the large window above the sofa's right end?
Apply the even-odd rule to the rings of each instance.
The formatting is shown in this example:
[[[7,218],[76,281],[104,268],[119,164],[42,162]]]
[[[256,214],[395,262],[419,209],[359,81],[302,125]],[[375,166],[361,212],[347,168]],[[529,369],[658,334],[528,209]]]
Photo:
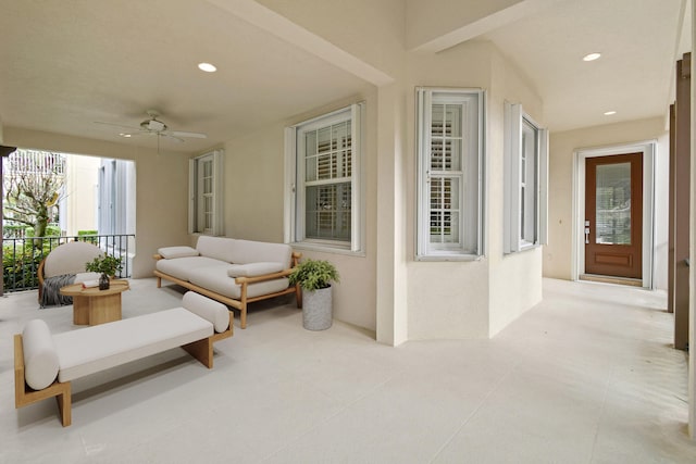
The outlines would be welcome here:
[[[364,111],[365,103],[350,106],[301,122],[285,129],[285,241],[300,249],[326,250],[364,255],[365,199],[364,199]],[[304,153],[301,135],[332,124],[350,121],[351,175],[350,240],[316,239],[306,236],[304,212]],[[300,160],[300,156],[302,159]]]

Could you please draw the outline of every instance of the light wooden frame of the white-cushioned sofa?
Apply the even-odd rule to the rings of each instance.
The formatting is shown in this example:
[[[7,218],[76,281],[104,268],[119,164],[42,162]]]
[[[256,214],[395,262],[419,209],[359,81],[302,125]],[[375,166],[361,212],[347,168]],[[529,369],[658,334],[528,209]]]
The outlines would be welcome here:
[[[302,256],[301,253],[298,253],[297,251],[293,252],[293,267],[297,266],[297,264],[299,263],[300,258]],[[161,260],[162,255],[161,254],[153,254],[152,258],[154,258],[156,260]],[[253,303],[254,301],[261,301],[261,300],[266,300],[269,298],[274,298],[274,297],[279,297],[282,294],[290,294],[290,293],[295,293],[296,298],[297,298],[297,308],[302,308],[302,290],[298,285],[296,286],[290,286],[288,288],[286,288],[285,290],[282,291],[276,291],[273,293],[266,293],[266,294],[260,294],[258,297],[247,297],[247,286],[249,284],[253,284],[253,283],[258,283],[258,281],[264,281],[264,280],[273,280],[276,278],[281,278],[281,277],[287,277],[288,275],[290,275],[290,273],[293,272],[293,268],[289,269],[284,269],[277,273],[272,273],[272,274],[264,274],[261,276],[254,276],[254,277],[235,277],[235,284],[241,286],[240,288],[240,293],[239,293],[239,300],[235,300],[233,298],[229,297],[225,297],[224,294],[221,293],[216,293],[212,290],[209,290],[207,288],[203,287],[199,287],[195,284],[191,284],[190,281],[187,280],[182,280],[179,278],[176,278],[174,276],[171,276],[169,274],[164,274],[161,271],[154,269],[154,276],[157,277],[157,288],[161,288],[162,287],[162,279],[165,280],[170,280],[173,281],[174,284],[181,285],[184,288],[187,288],[188,290],[192,290],[197,293],[200,293],[202,296],[206,296],[208,298],[212,298],[213,300],[220,301],[223,304],[226,304],[228,306],[232,306],[236,310],[239,310],[240,312],[240,316],[239,316],[239,327],[240,328],[247,328],[247,304],[248,303]]]

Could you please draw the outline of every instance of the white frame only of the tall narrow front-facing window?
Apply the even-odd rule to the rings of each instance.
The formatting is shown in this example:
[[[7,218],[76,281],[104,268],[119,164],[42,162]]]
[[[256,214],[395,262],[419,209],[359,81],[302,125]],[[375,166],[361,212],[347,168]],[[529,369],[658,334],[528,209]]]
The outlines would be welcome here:
[[[461,171],[431,171],[433,104],[462,105]],[[417,261],[468,261],[485,254],[485,91],[482,89],[417,88]],[[460,183],[458,237],[455,242],[431,240],[431,179],[444,176]],[[471,195],[471,192],[474,192]],[[471,199],[468,198],[473,197]]]

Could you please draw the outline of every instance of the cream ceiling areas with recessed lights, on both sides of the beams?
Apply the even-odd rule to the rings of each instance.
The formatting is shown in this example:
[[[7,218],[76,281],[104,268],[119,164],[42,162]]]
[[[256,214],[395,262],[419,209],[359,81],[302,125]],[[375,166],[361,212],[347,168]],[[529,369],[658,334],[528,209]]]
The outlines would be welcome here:
[[[684,1],[557,1],[476,39],[518,63],[552,130],[659,116],[674,57],[689,48]],[[368,85],[203,1],[0,0],[0,34],[3,126],[152,146],[95,122],[137,126],[156,109],[174,130],[208,134],[164,139],[167,150],[200,151]],[[582,62],[591,51],[604,55]],[[200,61],[219,71],[198,71]]]

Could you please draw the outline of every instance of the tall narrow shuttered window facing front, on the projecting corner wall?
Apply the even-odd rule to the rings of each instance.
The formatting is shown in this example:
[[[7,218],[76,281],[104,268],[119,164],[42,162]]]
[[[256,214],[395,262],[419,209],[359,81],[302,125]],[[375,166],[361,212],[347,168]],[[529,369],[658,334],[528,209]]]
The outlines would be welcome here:
[[[483,254],[484,92],[418,89],[419,260]]]

